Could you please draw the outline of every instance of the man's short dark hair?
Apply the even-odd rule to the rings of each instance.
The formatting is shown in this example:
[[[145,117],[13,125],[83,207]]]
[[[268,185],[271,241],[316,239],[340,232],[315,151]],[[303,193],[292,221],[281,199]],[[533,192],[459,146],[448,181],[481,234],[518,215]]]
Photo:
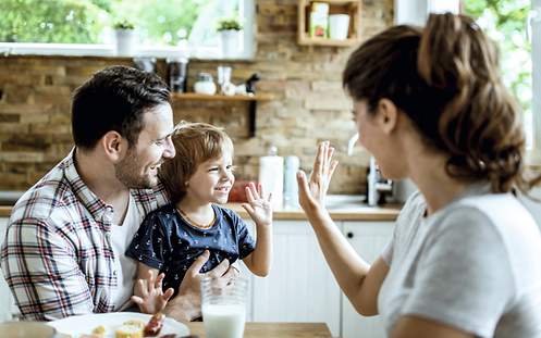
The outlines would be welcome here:
[[[145,127],[144,113],[163,103],[170,103],[170,91],[159,76],[127,66],[99,71],[73,97],[75,146],[93,149],[111,130],[135,146]]]

